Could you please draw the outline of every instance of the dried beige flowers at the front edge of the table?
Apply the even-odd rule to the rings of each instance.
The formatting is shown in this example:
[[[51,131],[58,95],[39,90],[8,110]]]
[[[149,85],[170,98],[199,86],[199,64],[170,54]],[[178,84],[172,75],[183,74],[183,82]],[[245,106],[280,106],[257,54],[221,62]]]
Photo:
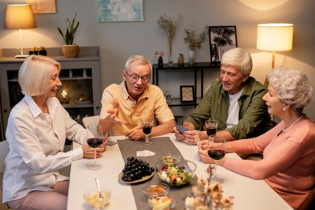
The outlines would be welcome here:
[[[233,197],[225,198],[222,195],[222,186],[218,182],[210,182],[213,175],[213,166],[209,164],[207,172],[209,178],[199,177],[197,186],[192,186],[192,193],[184,198],[185,210],[197,209],[224,209],[231,210]],[[213,208],[212,208],[213,207]]]

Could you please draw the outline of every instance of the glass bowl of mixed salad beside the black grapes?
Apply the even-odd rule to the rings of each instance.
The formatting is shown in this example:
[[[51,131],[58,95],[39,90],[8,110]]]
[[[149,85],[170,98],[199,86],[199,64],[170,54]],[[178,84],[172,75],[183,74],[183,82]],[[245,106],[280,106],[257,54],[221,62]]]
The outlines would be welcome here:
[[[165,166],[163,161],[155,164],[157,175],[170,186],[181,186],[190,182],[196,172],[196,164],[181,160],[176,166]]]

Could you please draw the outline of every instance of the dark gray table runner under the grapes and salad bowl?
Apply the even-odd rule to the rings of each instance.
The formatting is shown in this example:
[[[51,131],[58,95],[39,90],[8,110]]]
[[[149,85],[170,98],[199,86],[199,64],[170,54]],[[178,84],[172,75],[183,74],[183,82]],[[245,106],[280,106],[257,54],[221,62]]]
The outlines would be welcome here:
[[[142,141],[130,141],[130,140],[117,140],[121,155],[124,159],[124,162],[127,163],[127,158],[133,156],[136,157],[137,151],[143,151],[143,150],[149,150],[154,153],[156,153],[154,156],[148,156],[148,157],[136,157],[137,159],[141,159],[142,161],[147,162],[150,167],[153,167],[155,169],[155,163],[159,161],[160,155],[165,154],[174,154],[179,155],[181,159],[184,159],[182,154],[178,151],[178,149],[175,147],[173,142],[169,137],[156,137],[156,138],[150,138],[150,141],[153,143],[152,145],[146,146],[142,145]],[[121,169],[122,170],[122,169]],[[147,197],[142,192],[142,187],[144,184],[149,182],[163,182],[159,176],[157,176],[156,171],[154,171],[154,175],[151,179],[137,183],[137,184],[131,184],[133,197],[137,206],[138,210],[148,210],[149,205],[147,203]],[[122,183],[121,184],[125,184]],[[193,185],[197,184],[197,176],[195,175],[191,181],[183,186],[170,186],[169,194],[173,195],[176,199],[176,206],[174,210],[182,210],[184,209],[184,201],[183,197],[185,197],[187,194],[191,193],[191,187]]]

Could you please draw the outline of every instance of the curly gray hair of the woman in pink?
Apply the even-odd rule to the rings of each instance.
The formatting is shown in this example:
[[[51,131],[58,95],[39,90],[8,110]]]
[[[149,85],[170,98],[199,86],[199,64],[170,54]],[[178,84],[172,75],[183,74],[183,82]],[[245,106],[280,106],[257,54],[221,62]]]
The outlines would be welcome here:
[[[301,112],[313,100],[313,88],[301,70],[285,67],[270,69],[267,80],[278,91],[280,102],[290,104],[293,110]]]

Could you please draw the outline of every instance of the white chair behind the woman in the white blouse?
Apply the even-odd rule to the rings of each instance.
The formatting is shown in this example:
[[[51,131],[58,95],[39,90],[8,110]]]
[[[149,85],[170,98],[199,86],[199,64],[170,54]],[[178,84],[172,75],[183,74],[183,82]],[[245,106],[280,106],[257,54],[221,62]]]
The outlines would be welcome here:
[[[6,169],[5,159],[9,153],[9,143],[7,140],[0,142],[0,210],[12,209],[7,204],[2,204],[2,183]]]

